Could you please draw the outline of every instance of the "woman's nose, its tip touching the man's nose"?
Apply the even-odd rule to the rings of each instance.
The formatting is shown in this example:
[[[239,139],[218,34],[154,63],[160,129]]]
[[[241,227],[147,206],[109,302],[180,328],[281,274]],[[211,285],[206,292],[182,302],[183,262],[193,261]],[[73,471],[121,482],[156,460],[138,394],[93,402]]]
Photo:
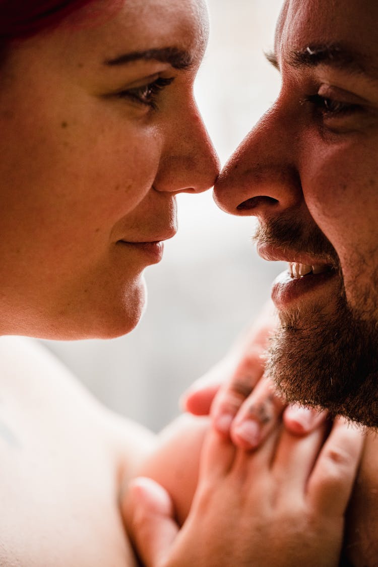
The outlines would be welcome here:
[[[196,104],[169,128],[155,189],[201,193],[213,187],[220,162]]]

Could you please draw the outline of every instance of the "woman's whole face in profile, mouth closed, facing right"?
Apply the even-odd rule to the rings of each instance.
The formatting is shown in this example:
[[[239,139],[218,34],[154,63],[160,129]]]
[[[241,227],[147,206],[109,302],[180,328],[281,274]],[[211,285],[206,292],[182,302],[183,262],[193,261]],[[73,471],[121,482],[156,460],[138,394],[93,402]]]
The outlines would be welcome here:
[[[218,174],[193,99],[202,0],[128,0],[101,23],[73,20],[12,46],[1,71],[8,334],[130,331],[143,270],[175,234],[176,194],[204,191]]]

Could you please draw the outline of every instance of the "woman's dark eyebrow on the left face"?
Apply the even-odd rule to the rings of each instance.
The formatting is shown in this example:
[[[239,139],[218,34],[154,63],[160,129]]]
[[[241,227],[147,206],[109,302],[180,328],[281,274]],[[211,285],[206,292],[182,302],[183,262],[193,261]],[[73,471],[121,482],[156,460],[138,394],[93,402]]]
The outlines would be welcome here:
[[[104,61],[104,65],[116,66],[127,65],[138,60],[155,60],[163,63],[169,63],[175,69],[188,69],[193,65],[193,58],[185,50],[177,49],[176,47],[164,47],[161,49],[146,49],[144,51],[134,51],[132,53],[123,53]]]

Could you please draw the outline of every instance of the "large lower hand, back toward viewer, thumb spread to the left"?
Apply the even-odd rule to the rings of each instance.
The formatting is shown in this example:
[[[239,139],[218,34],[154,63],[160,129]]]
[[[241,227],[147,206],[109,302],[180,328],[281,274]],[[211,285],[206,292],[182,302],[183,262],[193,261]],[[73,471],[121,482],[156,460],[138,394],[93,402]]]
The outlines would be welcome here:
[[[298,437],[276,428],[249,452],[209,431],[181,530],[168,493],[150,479],[134,480],[128,524],[143,565],[338,565],[363,438],[338,420],[324,442],[325,429]]]

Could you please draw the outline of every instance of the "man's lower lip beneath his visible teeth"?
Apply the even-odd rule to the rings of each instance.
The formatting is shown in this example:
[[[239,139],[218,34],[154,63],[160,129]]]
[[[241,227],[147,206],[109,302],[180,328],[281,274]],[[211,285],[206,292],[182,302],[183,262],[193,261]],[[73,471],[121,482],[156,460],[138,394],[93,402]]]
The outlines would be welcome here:
[[[326,266],[320,273],[309,272],[299,276],[299,272],[292,275],[291,266],[286,272],[279,274],[273,282],[271,298],[278,309],[290,307],[292,303],[301,299],[304,295],[320,291],[320,287],[327,284],[336,276],[336,272],[330,266]],[[316,271],[316,270],[315,270]]]

